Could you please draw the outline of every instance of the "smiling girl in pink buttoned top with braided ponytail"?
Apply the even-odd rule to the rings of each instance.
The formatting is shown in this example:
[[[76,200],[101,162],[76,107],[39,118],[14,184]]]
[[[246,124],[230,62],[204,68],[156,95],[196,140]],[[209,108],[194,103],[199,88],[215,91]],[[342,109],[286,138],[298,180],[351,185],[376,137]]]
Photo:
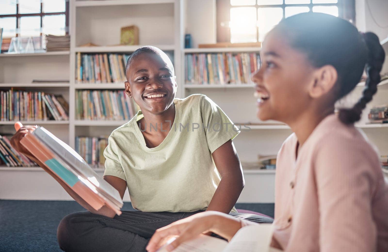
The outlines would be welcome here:
[[[388,251],[388,185],[378,154],[354,127],[372,100],[385,59],[378,37],[348,21],[320,13],[282,20],[266,36],[262,67],[252,75],[257,116],[288,124],[294,132],[278,153],[272,247],[284,251]],[[362,97],[334,114],[334,104],[359,83]],[[226,239],[249,221],[204,212],[156,231],[155,251],[208,231]]]

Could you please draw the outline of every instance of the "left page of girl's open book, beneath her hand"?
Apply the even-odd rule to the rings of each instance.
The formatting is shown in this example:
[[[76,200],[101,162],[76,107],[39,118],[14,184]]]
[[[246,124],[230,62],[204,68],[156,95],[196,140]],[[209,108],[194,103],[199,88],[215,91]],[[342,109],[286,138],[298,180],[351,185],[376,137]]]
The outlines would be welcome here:
[[[165,247],[173,242],[171,238],[166,244],[157,250],[157,252],[167,252]],[[199,235],[197,238],[184,242],[179,245],[174,252],[222,252],[227,245],[227,241],[208,235]]]

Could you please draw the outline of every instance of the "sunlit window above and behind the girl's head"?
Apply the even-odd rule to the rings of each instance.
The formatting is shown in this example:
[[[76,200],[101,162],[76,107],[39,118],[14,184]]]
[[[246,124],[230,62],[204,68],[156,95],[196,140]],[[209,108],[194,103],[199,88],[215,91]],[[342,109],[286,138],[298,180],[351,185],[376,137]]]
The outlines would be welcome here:
[[[283,18],[323,12],[354,21],[354,0],[217,0],[217,41],[249,43],[264,36]]]

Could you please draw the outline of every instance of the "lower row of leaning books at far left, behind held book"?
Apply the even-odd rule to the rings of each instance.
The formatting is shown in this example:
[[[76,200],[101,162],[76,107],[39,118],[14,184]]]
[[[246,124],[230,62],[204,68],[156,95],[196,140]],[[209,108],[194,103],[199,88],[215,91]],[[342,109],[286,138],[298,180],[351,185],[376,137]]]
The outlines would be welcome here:
[[[4,135],[0,136],[0,159],[1,164],[5,164],[8,167],[36,166],[35,162],[31,161],[31,159],[15,150],[9,142],[9,138]]]

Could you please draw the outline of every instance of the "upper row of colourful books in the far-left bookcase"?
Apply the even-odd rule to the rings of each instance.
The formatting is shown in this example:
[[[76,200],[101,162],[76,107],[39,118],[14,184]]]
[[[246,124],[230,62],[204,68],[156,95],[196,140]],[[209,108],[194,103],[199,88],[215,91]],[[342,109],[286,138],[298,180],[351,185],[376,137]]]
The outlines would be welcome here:
[[[62,95],[21,90],[0,91],[1,121],[68,120],[69,104]]]

